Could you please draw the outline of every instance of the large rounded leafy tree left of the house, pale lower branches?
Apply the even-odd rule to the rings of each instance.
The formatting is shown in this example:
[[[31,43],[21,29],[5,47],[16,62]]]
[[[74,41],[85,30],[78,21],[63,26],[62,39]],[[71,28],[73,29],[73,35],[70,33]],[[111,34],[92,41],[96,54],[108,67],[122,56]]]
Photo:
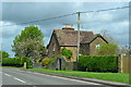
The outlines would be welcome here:
[[[44,34],[37,26],[25,27],[13,40],[12,51],[15,57],[27,57],[35,62],[46,52],[43,39]]]

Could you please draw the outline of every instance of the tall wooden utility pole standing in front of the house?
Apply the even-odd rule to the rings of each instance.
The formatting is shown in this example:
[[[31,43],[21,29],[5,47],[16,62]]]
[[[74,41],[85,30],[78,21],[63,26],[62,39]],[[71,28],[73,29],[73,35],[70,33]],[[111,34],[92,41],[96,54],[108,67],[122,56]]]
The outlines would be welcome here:
[[[81,12],[78,13],[78,58],[76,62],[79,61],[79,54],[80,54],[80,28],[81,28]]]

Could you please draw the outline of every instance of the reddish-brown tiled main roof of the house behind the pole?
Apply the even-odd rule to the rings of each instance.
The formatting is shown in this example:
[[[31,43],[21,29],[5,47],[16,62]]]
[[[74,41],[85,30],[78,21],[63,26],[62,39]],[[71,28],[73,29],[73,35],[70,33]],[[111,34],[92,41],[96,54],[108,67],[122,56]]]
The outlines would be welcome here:
[[[60,46],[78,46],[78,30],[55,29],[53,32]],[[81,44],[90,42],[95,37],[96,35],[94,35],[93,32],[80,32]]]

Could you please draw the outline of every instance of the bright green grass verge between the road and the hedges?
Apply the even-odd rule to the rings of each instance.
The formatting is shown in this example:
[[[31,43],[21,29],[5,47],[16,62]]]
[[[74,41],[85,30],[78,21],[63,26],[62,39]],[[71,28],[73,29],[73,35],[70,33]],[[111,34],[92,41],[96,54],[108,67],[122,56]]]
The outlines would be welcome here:
[[[7,67],[7,66],[4,66],[4,67]],[[8,66],[8,67],[11,67],[11,66]],[[17,67],[15,67],[15,69],[17,69]],[[28,69],[28,70],[29,71],[48,72],[48,73],[56,73],[56,74],[80,76],[80,77],[87,77],[87,78],[96,78],[96,79],[111,80],[111,82],[129,84],[129,74],[123,74],[123,73],[95,73],[95,72],[80,72],[80,71],[55,71],[55,70],[48,70],[48,69]]]

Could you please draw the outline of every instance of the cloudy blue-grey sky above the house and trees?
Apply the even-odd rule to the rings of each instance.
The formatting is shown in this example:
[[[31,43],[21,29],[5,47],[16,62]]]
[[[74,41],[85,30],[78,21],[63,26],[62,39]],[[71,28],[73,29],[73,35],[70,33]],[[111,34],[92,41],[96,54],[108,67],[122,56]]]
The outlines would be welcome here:
[[[71,24],[76,29],[78,15],[41,21],[31,24],[21,24],[36,20],[75,13],[78,11],[97,11],[111,8],[128,7],[128,2],[1,2],[0,3],[0,42],[2,50],[14,57],[11,45],[16,35],[26,26],[35,25],[44,33],[45,46],[50,40],[55,28],[61,29],[64,24]],[[93,12],[81,14],[81,30],[92,30],[94,34],[107,30],[119,44],[129,44],[129,9],[107,12]],[[12,26],[5,26],[12,25]],[[2,39],[2,41],[1,41]]]

